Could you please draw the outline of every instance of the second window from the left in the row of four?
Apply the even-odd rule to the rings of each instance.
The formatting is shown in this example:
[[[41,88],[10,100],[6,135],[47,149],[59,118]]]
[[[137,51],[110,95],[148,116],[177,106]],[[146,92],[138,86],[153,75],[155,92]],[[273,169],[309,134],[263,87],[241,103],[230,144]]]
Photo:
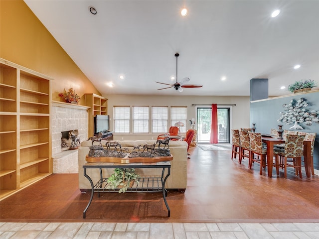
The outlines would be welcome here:
[[[133,106],[133,133],[149,132],[149,107]]]

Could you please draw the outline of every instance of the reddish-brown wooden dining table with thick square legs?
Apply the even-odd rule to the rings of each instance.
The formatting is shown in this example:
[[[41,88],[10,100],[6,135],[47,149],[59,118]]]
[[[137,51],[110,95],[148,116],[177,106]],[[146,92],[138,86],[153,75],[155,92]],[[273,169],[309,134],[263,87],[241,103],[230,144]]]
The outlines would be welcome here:
[[[267,170],[268,177],[273,174],[274,145],[285,143],[285,139],[279,139],[277,136],[263,136],[262,141],[267,144]],[[304,161],[307,177],[311,177],[311,140],[304,140]]]

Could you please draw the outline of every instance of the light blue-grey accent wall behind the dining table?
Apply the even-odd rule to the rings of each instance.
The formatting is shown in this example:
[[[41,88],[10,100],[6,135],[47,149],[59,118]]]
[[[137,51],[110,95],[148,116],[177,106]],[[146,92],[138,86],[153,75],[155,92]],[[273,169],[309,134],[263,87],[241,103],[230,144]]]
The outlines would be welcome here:
[[[300,98],[306,99],[308,112],[319,111],[319,90],[304,94],[294,94],[284,97],[275,97],[261,101],[252,101],[250,103],[250,123],[256,123],[256,132],[270,133],[271,128],[278,128],[279,124],[284,125],[283,129],[289,129],[293,124],[278,122],[279,113],[284,111],[284,104],[289,104],[292,99],[298,101]],[[303,132],[317,133],[314,150],[314,168],[319,170],[319,123],[313,123],[308,126],[299,123],[304,129]],[[291,130],[291,129],[290,129]]]

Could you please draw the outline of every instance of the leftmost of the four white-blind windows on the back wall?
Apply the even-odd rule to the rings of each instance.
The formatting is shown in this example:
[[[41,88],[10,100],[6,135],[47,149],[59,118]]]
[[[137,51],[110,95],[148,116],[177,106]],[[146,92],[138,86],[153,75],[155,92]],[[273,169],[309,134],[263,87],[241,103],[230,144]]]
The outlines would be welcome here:
[[[115,133],[130,132],[130,107],[115,106],[113,108],[113,119]]]

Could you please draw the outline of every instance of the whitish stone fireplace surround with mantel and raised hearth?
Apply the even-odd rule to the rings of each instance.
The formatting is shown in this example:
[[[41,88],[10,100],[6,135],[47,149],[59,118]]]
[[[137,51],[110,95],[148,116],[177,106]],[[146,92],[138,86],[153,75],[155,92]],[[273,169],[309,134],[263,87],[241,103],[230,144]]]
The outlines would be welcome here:
[[[78,150],[62,151],[62,131],[77,129],[80,142],[88,136],[88,109],[70,103],[51,104],[53,173],[78,173]]]

